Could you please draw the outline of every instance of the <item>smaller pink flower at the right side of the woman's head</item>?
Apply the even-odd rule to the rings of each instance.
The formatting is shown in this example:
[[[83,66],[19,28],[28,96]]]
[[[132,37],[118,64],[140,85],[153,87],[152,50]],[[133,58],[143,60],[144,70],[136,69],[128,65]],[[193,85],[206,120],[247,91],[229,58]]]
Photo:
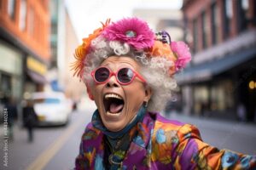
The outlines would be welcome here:
[[[177,60],[175,61],[176,71],[183,69],[191,60],[189,47],[185,42],[172,42],[172,52],[176,54]]]

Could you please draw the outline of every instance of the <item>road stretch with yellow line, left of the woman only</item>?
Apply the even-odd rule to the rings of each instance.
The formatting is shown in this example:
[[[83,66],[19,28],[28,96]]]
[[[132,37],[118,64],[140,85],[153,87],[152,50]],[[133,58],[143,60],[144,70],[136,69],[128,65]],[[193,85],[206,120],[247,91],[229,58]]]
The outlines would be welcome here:
[[[34,140],[27,142],[25,128],[15,127],[15,139],[8,143],[8,167],[3,167],[1,150],[0,169],[73,169],[79,153],[79,142],[84,128],[90,122],[94,109],[74,111],[65,127],[37,127]],[[1,139],[1,149],[3,139]]]

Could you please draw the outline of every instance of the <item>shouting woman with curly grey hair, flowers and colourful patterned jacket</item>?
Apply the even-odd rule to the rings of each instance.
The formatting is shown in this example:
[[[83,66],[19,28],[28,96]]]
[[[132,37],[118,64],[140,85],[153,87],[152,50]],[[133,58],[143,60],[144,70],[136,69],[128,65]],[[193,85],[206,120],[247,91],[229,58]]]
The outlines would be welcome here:
[[[137,18],[107,20],[75,57],[75,75],[97,106],[75,169],[256,168],[256,156],[218,150],[202,142],[196,127],[156,112],[177,86],[173,74],[190,60],[184,42],[154,34]]]

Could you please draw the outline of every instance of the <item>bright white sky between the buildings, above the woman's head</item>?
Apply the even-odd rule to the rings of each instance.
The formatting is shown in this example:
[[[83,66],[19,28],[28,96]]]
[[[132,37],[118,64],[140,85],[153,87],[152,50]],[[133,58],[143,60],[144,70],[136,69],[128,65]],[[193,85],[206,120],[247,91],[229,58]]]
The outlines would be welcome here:
[[[67,10],[79,40],[102,26],[108,18],[119,20],[132,15],[133,8],[179,9],[182,0],[66,0]]]

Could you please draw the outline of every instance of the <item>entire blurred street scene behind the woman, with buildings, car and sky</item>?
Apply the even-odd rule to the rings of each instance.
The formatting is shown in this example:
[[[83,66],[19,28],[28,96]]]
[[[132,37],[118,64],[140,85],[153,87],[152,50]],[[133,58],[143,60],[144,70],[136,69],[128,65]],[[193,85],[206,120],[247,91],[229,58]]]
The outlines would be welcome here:
[[[0,0],[0,169],[73,168],[96,108],[70,71],[74,49],[101,21],[130,16],[192,53],[162,115],[256,155],[254,0]]]

